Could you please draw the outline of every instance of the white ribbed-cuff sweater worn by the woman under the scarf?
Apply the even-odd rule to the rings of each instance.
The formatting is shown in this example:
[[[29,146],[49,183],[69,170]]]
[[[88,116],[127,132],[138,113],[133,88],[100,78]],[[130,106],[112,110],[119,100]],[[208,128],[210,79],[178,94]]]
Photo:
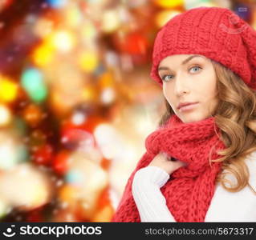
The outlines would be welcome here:
[[[231,193],[217,183],[205,222],[256,222],[256,151],[245,159],[250,171],[250,186]],[[232,174],[226,176],[235,182]],[[169,174],[158,166],[146,166],[136,172],[132,182],[132,196],[141,222],[176,222],[161,187]]]

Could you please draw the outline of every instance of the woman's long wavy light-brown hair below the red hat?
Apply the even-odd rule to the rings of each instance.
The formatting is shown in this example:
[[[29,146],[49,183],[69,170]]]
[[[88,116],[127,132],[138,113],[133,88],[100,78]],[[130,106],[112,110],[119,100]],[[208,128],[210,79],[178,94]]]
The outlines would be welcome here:
[[[256,90],[251,89],[237,74],[211,60],[217,77],[217,109],[212,113],[216,125],[220,129],[219,138],[226,149],[219,150],[221,158],[210,159],[209,162],[222,162],[217,182],[230,192],[242,190],[250,186],[249,170],[244,162],[246,156],[256,150]],[[161,116],[159,126],[164,126],[174,113],[165,99],[166,111]],[[216,132],[217,134],[217,132]],[[226,173],[223,173],[226,170]],[[236,184],[225,178],[226,174],[234,174]],[[226,186],[226,182],[230,184]],[[250,186],[252,189],[252,187]],[[253,189],[252,189],[253,190]]]

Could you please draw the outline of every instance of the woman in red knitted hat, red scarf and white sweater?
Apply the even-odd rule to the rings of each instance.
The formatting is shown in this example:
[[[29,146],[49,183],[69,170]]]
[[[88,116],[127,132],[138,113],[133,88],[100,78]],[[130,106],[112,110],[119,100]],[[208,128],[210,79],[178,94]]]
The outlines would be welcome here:
[[[256,32],[224,8],[178,14],[151,76],[167,110],[112,222],[255,222]]]

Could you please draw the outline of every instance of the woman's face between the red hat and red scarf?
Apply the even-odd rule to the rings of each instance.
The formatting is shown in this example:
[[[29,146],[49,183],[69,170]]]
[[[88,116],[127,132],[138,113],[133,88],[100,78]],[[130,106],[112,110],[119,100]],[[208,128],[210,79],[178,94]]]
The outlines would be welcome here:
[[[199,54],[176,54],[158,66],[163,93],[182,122],[209,118],[217,107],[217,78],[209,58]],[[179,108],[182,103],[193,103]]]

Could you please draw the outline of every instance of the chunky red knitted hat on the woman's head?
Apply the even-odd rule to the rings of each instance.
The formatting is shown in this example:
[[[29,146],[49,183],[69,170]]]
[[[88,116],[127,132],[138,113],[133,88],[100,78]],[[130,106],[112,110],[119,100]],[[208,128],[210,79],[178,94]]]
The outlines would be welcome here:
[[[157,68],[173,54],[201,54],[220,62],[256,89],[256,31],[221,7],[197,7],[177,14],[157,33],[151,78],[161,86]]]

